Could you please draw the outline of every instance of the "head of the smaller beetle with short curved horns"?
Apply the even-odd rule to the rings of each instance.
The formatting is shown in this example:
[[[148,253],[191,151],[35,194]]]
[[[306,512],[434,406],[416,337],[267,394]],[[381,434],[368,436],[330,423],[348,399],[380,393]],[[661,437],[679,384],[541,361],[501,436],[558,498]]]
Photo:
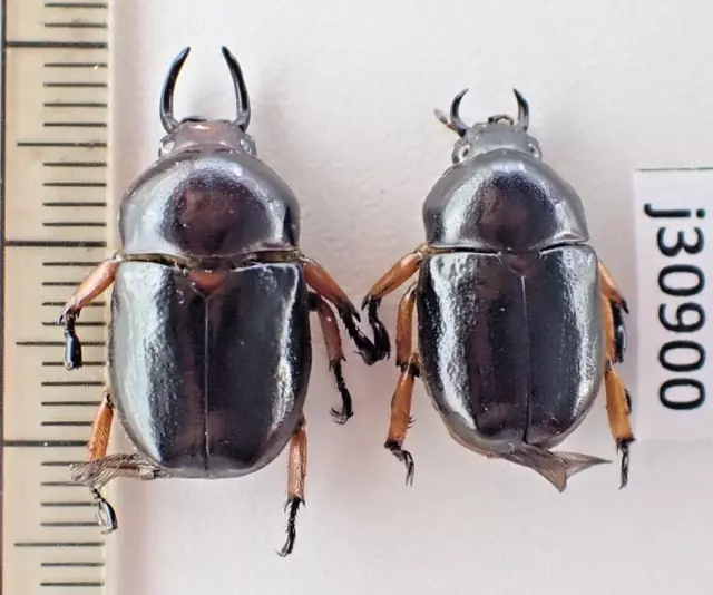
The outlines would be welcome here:
[[[514,89],[518,105],[517,121],[507,115],[497,115],[488,118],[488,121],[468,126],[460,118],[460,103],[468,89],[460,91],[450,107],[450,121],[440,111],[436,117],[460,137],[453,146],[452,160],[458,165],[478,155],[491,150],[508,149],[526,153],[533,157],[541,158],[539,143],[527,134],[529,126],[529,106],[525,97]]]

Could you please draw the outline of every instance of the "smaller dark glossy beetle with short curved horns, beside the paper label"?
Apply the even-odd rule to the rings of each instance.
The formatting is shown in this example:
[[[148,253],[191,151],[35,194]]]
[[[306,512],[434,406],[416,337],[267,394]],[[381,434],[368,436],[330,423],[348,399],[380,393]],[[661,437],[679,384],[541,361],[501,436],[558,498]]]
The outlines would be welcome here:
[[[515,89],[518,117],[468,126],[460,104],[451,165],[426,197],[426,242],[400,259],[362,302],[372,324],[381,301],[411,276],[397,314],[395,363],[385,448],[413,480],[403,449],[414,379],[450,436],[488,458],[530,468],[560,492],[574,474],[609,462],[551,449],[590,411],[604,382],[611,431],[628,481],[634,442],[631,397],[614,364],[626,349],[628,306],[588,244],[582,199],[541,157],[528,134],[529,105]],[[413,318],[417,349],[413,349]]]

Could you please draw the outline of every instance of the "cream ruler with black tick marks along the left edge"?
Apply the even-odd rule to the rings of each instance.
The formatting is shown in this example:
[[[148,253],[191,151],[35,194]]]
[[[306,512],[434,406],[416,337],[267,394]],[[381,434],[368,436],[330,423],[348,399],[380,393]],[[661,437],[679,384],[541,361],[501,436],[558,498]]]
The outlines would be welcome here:
[[[77,324],[85,368],[62,367],[56,320],[108,253],[106,1],[2,4],[3,595],[104,593],[105,538],[67,466],[85,457],[105,383],[106,309]]]

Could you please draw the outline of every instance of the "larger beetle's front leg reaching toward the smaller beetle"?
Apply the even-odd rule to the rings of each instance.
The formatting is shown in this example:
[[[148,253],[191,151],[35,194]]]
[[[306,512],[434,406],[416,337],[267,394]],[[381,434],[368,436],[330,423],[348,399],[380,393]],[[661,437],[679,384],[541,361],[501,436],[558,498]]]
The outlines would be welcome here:
[[[356,345],[364,362],[371,365],[384,359],[384,357],[388,357],[389,335],[383,335],[379,328],[372,325],[374,343],[367,339],[356,325],[356,322],[361,320],[356,308],[354,308],[354,304],[352,304],[342,287],[338,285],[336,281],[334,281],[316,261],[303,256],[301,262],[304,266],[304,276],[307,284],[319,295],[334,304],[346,328],[346,332]]]

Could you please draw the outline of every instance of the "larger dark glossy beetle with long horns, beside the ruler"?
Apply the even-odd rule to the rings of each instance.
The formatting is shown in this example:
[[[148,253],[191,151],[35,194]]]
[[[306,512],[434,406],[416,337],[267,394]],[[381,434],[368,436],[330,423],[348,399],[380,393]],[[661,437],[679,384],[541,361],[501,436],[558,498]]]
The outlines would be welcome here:
[[[245,80],[227,48],[237,117],[174,117],[174,88],[189,50],[174,59],[164,82],[158,158],[121,198],[121,250],[87,276],[59,319],[65,365],[75,370],[82,364],[77,319],[113,284],[109,388],[87,460],[70,474],[91,489],[99,525],[110,533],[116,513],[99,489],[113,478],[235,478],[262,469],[289,445],[285,556],[304,501],[310,313],[319,316],[341,394],[341,410],[332,409],[338,422],[353,411],[328,302],[364,362],[382,355],[359,329],[344,291],[300,251],[297,198],[257,158],[246,131]],[[134,453],[106,453],[115,409]]]

